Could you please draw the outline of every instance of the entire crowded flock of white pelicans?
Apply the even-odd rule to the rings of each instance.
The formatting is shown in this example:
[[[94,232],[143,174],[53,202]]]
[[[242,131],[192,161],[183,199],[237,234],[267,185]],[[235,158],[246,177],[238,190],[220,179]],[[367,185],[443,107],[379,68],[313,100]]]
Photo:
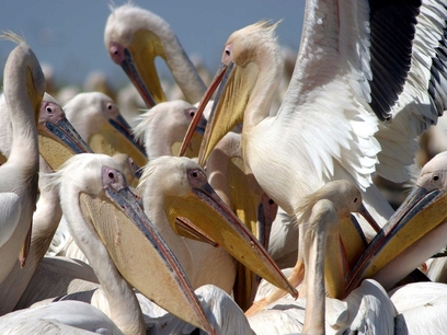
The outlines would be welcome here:
[[[306,0],[296,54],[279,24],[229,31],[213,77],[112,5],[130,86],[62,104],[2,32],[0,333],[447,334],[447,1]]]

